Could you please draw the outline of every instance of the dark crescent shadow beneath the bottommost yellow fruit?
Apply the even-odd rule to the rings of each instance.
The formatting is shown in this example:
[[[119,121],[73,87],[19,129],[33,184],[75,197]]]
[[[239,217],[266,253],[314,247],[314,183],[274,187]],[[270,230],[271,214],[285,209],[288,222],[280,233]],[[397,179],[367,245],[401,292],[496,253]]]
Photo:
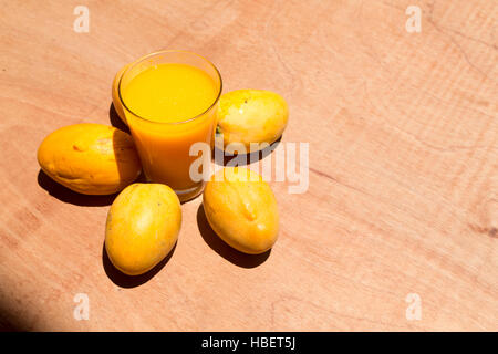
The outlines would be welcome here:
[[[104,271],[107,274],[108,279],[111,279],[111,281],[115,283],[117,287],[135,288],[146,283],[152,278],[154,278],[154,275],[156,275],[169,261],[173,253],[175,252],[175,249],[176,243],[169,251],[169,253],[165,258],[163,258],[163,260],[159,263],[154,266],[154,268],[151,269],[149,271],[139,275],[127,275],[113,266],[113,263],[108,259],[108,254],[107,251],[105,250],[104,243],[104,246],[102,247],[102,264],[104,266]]]

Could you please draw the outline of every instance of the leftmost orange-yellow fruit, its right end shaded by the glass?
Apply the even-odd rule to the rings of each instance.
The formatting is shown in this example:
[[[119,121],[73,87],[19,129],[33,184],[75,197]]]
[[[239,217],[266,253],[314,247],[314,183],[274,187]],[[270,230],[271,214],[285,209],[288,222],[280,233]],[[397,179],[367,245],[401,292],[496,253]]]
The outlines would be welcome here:
[[[103,124],[75,124],[48,135],[38,149],[41,169],[85,195],[111,195],[132,184],[142,165],[132,136]]]

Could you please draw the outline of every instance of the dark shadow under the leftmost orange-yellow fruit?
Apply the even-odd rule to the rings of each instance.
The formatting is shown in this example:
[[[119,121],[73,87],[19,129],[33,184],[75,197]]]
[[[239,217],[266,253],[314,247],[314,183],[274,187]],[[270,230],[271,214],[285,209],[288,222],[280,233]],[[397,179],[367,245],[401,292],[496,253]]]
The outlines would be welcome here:
[[[38,173],[38,184],[54,198],[61,201],[82,207],[103,207],[110,206],[117,194],[107,196],[89,196],[75,192],[50,178],[43,170]]]

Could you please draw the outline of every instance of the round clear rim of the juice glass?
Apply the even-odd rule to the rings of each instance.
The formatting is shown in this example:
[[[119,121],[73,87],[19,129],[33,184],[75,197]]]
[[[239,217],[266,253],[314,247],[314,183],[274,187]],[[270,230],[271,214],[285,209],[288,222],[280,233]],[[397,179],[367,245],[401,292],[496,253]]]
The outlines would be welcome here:
[[[124,75],[125,75],[132,67],[135,67],[135,65],[137,65],[137,64],[141,63],[142,61],[144,61],[144,60],[146,60],[146,59],[148,59],[148,58],[152,58],[152,56],[156,56],[156,55],[159,55],[159,54],[164,54],[164,53],[187,53],[187,54],[196,55],[196,56],[203,59],[204,61],[206,61],[209,65],[211,65],[211,67],[215,70],[215,72],[216,72],[216,74],[218,75],[218,79],[219,79],[219,90],[218,90],[218,94],[216,95],[215,101],[207,107],[207,110],[205,110],[205,111],[203,111],[201,113],[195,115],[194,117],[187,118],[187,119],[185,119],[185,121],[179,121],[179,122],[157,122],[157,121],[153,121],[153,119],[151,119],[151,118],[143,117],[143,116],[141,116],[139,114],[136,114],[135,112],[133,112],[132,110],[129,110],[129,107],[126,105],[126,103],[124,102],[123,96],[122,96],[122,94],[121,94],[121,87],[122,87],[121,84],[122,84],[122,82],[123,82]],[[187,64],[187,65],[188,65],[188,64]],[[224,82],[222,82],[222,80],[221,80],[221,74],[219,73],[218,67],[216,67],[216,65],[212,64],[212,62],[211,62],[210,60],[208,60],[207,58],[205,58],[205,56],[203,56],[203,55],[200,55],[200,54],[190,52],[190,51],[186,51],[186,50],[162,50],[162,51],[148,53],[148,54],[146,54],[146,55],[144,55],[144,56],[141,56],[141,58],[138,58],[137,60],[131,62],[129,64],[127,64],[127,67],[126,67],[125,71],[121,74],[120,82],[118,82],[118,84],[117,84],[117,96],[120,97],[120,103],[123,105],[123,107],[124,107],[126,111],[128,111],[131,114],[133,114],[134,116],[136,116],[137,118],[141,118],[141,119],[143,119],[143,121],[146,121],[146,122],[148,122],[148,123],[164,124],[164,125],[176,125],[176,124],[184,124],[184,123],[188,123],[188,122],[195,121],[195,119],[197,119],[197,118],[204,116],[206,113],[208,113],[208,112],[209,112],[212,107],[215,107],[215,105],[218,103],[219,97],[221,96],[222,87],[224,87]]]

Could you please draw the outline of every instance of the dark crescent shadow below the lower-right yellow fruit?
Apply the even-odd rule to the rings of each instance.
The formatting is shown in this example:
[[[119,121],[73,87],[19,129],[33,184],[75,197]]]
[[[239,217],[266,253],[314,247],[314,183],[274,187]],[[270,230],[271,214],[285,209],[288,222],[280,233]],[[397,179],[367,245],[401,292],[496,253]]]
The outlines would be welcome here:
[[[197,226],[206,243],[219,256],[241,268],[255,268],[270,257],[271,249],[261,254],[247,254],[237,251],[221,240],[209,226],[203,205],[197,209]]]

